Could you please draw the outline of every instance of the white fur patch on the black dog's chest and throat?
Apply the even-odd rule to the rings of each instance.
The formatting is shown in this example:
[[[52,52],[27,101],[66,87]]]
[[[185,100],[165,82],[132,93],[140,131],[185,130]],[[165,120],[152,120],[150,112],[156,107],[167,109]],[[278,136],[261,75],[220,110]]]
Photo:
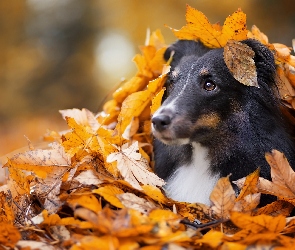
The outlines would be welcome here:
[[[193,157],[189,164],[179,167],[165,185],[167,196],[177,201],[210,205],[209,196],[219,175],[209,172],[208,149],[193,143]]]

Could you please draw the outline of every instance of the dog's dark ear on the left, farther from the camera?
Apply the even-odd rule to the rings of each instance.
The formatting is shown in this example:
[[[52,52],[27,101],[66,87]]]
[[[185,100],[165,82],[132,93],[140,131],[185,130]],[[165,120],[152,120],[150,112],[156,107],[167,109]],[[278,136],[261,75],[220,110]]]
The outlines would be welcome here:
[[[193,40],[178,40],[164,53],[164,59],[168,61],[172,57],[171,67],[174,68],[182,57],[196,55],[202,56],[210,49],[205,47],[201,42],[196,42]]]

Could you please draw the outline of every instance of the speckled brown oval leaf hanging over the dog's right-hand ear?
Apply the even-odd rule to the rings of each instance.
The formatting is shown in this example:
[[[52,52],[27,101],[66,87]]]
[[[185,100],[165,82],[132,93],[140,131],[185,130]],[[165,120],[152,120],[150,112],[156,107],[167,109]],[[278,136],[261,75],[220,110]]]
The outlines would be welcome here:
[[[244,85],[259,88],[254,56],[248,45],[235,40],[229,40],[224,47],[224,62],[233,77]]]

